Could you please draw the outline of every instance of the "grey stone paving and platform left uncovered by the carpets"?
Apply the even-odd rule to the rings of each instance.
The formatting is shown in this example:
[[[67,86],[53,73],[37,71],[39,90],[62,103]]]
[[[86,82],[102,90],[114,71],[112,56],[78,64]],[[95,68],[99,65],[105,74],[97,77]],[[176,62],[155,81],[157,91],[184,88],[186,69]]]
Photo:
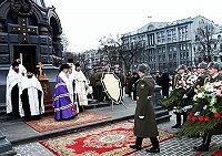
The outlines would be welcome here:
[[[115,122],[133,118],[135,102],[127,96],[123,98],[123,101],[127,108],[122,104],[120,104],[114,105],[112,110],[110,105],[101,103],[101,105],[104,104],[104,106],[87,110],[87,112],[94,112],[109,115],[111,118],[105,121],[78,125],[46,133],[38,133],[31,127],[29,127],[22,119],[0,119],[0,132],[7,137],[8,141],[11,142],[12,148],[17,153],[16,156],[54,156],[51,152],[49,152],[47,148],[39,144],[40,139],[75,133],[79,131],[93,128],[104,124],[112,124]],[[175,124],[175,115],[173,115],[171,112],[170,115],[172,115],[170,117],[170,121],[164,123],[159,122],[158,127],[169,131],[171,133],[176,133],[178,129],[171,128],[171,126]],[[131,156],[193,156],[195,154],[195,152],[193,150],[193,146],[201,144],[201,142],[202,137],[183,137],[180,139],[173,137],[171,139],[160,143],[161,152],[159,154],[148,154],[145,152],[145,148],[143,148],[142,150],[131,154]],[[222,145],[222,136],[214,135],[212,137],[211,144],[214,143],[216,143],[216,147],[220,147]]]

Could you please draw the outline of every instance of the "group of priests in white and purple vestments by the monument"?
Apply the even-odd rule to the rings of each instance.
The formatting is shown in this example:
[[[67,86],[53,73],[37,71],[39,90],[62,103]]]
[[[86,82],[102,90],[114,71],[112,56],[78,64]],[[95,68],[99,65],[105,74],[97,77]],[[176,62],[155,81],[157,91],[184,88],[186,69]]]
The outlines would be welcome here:
[[[88,80],[79,63],[61,64],[53,94],[54,119],[74,118],[88,105]],[[44,113],[44,92],[33,69],[14,60],[7,75],[7,113],[24,121],[40,119]]]

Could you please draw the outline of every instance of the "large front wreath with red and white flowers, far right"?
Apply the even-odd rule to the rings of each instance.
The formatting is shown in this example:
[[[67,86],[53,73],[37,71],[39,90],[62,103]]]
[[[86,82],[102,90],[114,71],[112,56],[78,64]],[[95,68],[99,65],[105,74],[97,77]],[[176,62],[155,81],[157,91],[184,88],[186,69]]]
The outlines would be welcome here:
[[[206,82],[194,95],[193,106],[178,133],[179,137],[210,132],[222,123],[221,86],[216,83]]]

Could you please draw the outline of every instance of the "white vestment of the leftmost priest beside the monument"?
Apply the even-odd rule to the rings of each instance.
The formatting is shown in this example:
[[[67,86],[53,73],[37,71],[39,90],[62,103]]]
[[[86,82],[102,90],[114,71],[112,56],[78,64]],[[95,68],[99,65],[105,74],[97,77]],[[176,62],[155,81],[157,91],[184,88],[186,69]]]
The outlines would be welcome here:
[[[21,85],[22,74],[19,72],[17,73],[13,69],[9,70],[7,75],[7,93],[6,93],[6,105],[7,105],[7,113],[12,112],[12,104],[11,104],[11,90],[12,87],[18,84],[18,87]],[[19,107],[21,106],[21,98],[19,101]]]

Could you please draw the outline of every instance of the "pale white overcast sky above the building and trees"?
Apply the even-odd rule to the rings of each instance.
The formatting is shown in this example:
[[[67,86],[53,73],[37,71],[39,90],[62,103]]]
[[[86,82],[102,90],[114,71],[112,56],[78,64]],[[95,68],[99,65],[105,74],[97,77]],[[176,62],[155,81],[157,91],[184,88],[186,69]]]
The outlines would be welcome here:
[[[222,24],[220,0],[44,0],[53,6],[72,52],[98,49],[103,37],[137,31],[150,22],[202,15]]]

